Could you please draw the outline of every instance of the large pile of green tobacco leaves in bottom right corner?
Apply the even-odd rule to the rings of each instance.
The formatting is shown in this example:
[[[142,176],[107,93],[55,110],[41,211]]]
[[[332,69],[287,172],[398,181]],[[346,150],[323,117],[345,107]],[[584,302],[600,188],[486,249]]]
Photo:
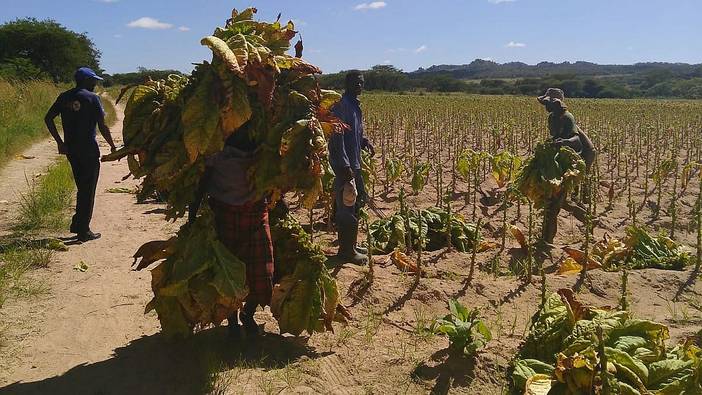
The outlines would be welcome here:
[[[512,393],[601,394],[607,385],[612,394],[702,393],[699,344],[690,339],[667,349],[668,338],[663,324],[587,306],[572,291],[559,290],[534,316],[513,361]],[[606,369],[600,365],[602,350]]]

